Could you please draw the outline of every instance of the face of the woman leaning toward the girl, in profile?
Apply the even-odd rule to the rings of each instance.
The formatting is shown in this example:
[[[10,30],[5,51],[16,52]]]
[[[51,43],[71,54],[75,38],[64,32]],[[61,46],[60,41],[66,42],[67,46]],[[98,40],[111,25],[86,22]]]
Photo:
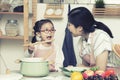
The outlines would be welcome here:
[[[76,28],[73,24],[68,23],[68,29],[74,37],[82,35],[82,27],[80,26]]]

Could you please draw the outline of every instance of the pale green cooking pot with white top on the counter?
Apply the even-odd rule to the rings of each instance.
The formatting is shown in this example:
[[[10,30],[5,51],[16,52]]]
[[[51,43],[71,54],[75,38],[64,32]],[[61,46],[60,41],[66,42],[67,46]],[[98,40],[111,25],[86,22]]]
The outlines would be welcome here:
[[[24,76],[47,76],[49,74],[48,62],[40,60],[40,58],[23,59],[20,72]]]

